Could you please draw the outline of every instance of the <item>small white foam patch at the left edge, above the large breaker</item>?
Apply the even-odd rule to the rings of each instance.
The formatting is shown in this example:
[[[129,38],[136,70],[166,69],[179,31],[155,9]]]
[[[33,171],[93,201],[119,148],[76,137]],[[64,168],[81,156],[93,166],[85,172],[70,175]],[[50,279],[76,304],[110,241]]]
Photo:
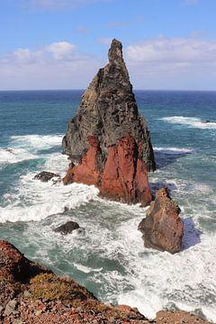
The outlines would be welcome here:
[[[0,164],[13,164],[37,157],[24,148],[0,148]]]

